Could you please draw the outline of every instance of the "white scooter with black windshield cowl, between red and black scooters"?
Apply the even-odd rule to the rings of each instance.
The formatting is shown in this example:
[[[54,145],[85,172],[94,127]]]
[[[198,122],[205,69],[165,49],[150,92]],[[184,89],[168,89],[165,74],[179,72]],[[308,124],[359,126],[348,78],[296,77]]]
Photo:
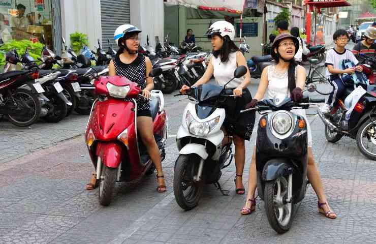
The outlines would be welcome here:
[[[246,72],[240,66],[234,77],[242,77]],[[226,116],[226,98],[233,99],[234,95],[226,85],[213,84],[191,88],[186,95],[198,103],[187,104],[177,133],[179,157],[175,162],[174,195],[177,204],[189,210],[198,205],[204,184],[214,184],[225,194],[218,180],[233,155],[231,139],[222,145],[225,136],[221,127]]]

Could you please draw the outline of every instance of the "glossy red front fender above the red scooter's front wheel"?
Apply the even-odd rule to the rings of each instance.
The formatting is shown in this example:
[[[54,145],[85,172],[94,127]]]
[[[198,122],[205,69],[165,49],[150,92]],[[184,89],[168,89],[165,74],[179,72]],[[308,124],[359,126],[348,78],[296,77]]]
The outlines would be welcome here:
[[[98,142],[97,156],[109,168],[117,168],[121,162],[122,148],[116,142]]]

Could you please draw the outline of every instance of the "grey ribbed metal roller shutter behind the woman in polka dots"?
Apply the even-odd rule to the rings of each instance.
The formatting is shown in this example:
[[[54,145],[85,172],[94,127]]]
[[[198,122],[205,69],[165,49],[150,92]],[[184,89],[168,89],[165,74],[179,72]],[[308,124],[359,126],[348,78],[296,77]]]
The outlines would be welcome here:
[[[130,0],[101,0],[101,18],[102,18],[102,42],[103,49],[108,48],[107,38],[115,47],[114,32],[122,24],[131,23]]]

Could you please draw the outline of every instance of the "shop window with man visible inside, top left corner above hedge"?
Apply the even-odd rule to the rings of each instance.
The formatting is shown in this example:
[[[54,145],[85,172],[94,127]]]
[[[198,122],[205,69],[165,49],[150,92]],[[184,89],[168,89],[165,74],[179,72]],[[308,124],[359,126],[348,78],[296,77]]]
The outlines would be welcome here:
[[[11,40],[52,47],[51,0],[0,0],[0,44]]]

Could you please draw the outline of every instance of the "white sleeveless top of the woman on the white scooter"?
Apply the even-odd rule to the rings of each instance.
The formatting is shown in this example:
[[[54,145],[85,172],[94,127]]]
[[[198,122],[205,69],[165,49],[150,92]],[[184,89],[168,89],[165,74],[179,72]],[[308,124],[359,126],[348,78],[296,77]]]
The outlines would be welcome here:
[[[221,57],[218,55],[218,57],[214,57],[214,55],[211,56],[211,64],[214,68],[214,78],[218,85],[225,85],[229,80],[234,78],[234,71],[236,68],[238,68],[238,65],[236,63],[236,52],[232,52],[229,54],[229,60],[227,60],[226,63],[222,63]],[[244,81],[244,78],[235,78],[232,80],[226,87],[227,88],[236,88],[238,87],[242,82]]]

